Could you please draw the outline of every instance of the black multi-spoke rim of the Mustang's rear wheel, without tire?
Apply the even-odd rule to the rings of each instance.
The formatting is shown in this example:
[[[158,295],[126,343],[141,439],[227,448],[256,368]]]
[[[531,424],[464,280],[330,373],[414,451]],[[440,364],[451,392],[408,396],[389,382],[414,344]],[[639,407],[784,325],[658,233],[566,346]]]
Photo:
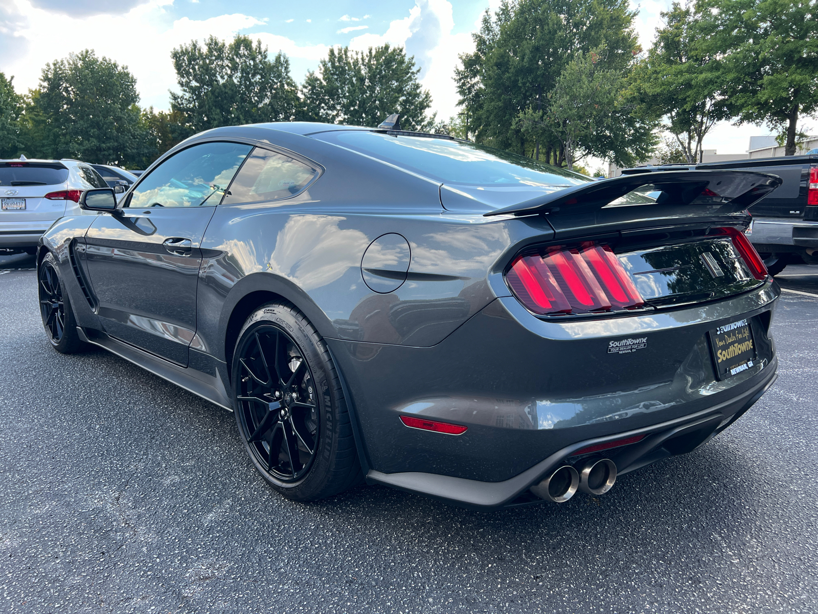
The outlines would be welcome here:
[[[236,400],[251,454],[277,480],[305,476],[318,446],[312,372],[298,345],[272,324],[256,327],[239,349]]]

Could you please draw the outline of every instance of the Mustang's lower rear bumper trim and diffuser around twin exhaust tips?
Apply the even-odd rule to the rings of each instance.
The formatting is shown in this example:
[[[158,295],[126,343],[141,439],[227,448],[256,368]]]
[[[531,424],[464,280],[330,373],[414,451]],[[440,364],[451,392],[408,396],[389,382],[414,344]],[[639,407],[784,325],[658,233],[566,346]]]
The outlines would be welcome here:
[[[704,445],[713,436],[730,426],[732,422],[761,398],[775,381],[777,377],[776,368],[777,359],[773,359],[771,364],[764,370],[764,377],[760,381],[757,381],[748,390],[730,400],[651,427],[578,441],[549,455],[510,480],[484,482],[433,473],[382,473],[370,470],[366,474],[366,481],[371,484],[392,486],[400,490],[425,494],[434,499],[456,503],[466,508],[491,510],[527,503],[542,503],[542,499],[528,493],[528,489],[565,464],[578,465],[591,456],[610,458],[616,463],[618,475],[621,476],[640,467],[645,467],[650,463],[655,463],[662,458],[676,454],[686,454]],[[576,454],[578,450],[589,445],[620,440],[631,436],[643,436],[643,439],[638,443],[608,449],[602,453],[584,456]]]

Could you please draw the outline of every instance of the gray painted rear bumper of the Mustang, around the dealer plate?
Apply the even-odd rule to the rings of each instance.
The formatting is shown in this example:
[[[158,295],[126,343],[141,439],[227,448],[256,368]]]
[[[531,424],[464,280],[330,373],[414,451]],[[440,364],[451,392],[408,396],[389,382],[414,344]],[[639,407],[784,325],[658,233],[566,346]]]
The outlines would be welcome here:
[[[431,347],[326,342],[352,401],[371,481],[390,483],[386,476],[402,474],[393,485],[408,487],[407,474],[423,474],[443,483],[497,484],[538,475],[533,467],[582,442],[738,412],[774,376],[768,331],[779,295],[768,281],[681,309],[560,322],[501,297]],[[719,381],[708,332],[739,318],[753,327],[757,359]],[[611,341],[643,337],[633,352],[610,351]],[[401,416],[468,430],[450,436],[411,429]]]

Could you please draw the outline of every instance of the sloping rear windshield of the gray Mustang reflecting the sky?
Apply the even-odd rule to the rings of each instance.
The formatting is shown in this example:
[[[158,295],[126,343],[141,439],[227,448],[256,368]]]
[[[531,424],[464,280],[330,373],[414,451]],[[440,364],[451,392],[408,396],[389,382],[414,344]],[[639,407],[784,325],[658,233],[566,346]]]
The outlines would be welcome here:
[[[392,136],[367,130],[338,130],[312,137],[390,162],[440,183],[568,187],[591,180],[531,158],[447,138]]]

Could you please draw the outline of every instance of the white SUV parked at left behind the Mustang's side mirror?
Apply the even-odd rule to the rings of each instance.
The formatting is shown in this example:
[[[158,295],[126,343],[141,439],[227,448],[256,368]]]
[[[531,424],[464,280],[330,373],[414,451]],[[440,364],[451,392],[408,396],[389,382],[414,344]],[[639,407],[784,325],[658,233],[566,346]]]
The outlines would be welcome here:
[[[82,213],[79,196],[92,187],[108,184],[78,160],[0,160],[0,254],[34,254],[56,219]]]

